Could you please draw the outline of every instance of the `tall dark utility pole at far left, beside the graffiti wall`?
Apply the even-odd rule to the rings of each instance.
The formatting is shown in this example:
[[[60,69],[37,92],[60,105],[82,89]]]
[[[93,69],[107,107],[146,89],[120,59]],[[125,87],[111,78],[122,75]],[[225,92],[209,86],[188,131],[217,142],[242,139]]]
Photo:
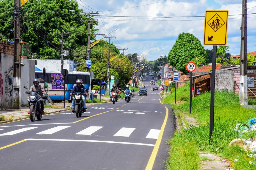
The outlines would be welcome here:
[[[14,59],[12,108],[20,108],[20,0],[14,0]]]

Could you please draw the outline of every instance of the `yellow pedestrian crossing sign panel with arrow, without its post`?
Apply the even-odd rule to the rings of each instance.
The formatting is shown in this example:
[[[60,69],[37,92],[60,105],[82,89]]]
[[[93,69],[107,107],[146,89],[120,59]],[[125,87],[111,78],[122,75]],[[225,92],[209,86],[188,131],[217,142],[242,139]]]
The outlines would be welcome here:
[[[228,11],[205,11],[204,45],[226,46]]]

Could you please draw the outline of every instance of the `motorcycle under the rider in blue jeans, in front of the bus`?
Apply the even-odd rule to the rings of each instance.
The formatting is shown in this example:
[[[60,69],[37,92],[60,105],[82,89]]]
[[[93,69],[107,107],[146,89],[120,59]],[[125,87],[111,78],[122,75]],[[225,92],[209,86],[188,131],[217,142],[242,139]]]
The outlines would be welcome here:
[[[85,89],[86,91],[88,91],[88,89]],[[69,89],[69,91],[72,91],[72,89]],[[82,117],[82,113],[84,113],[84,109],[83,109],[83,99],[84,98],[84,93],[81,91],[77,91],[72,93],[73,98],[75,99],[75,113],[76,113],[76,117]]]

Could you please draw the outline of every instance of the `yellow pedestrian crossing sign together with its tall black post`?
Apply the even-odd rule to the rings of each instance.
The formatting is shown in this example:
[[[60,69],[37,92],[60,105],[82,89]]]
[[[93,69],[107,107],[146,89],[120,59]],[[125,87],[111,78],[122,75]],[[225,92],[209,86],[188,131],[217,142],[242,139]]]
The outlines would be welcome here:
[[[205,11],[204,45],[213,45],[210,106],[210,138],[214,129],[214,93],[217,46],[227,45],[228,11]]]

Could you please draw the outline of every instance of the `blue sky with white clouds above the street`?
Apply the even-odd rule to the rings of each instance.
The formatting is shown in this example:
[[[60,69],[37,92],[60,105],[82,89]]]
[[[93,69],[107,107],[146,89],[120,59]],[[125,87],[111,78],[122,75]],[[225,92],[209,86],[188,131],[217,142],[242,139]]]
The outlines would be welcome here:
[[[229,15],[242,13],[242,0],[76,0],[84,11],[99,11],[107,16],[204,16],[205,10],[228,10]],[[156,3],[158,2],[158,3]],[[153,4],[152,4],[153,3]],[[247,13],[256,13],[256,0],[248,0]],[[146,5],[149,4],[149,5]],[[87,5],[87,6],[86,6]],[[143,5],[143,6],[141,6]],[[140,7],[134,7],[140,6]],[[131,8],[134,7],[134,8]],[[86,9],[87,8],[87,9]],[[128,9],[123,9],[128,8]],[[115,10],[123,9],[123,10]],[[114,10],[114,11],[109,11]],[[125,53],[138,53],[156,60],[168,55],[178,35],[189,32],[203,44],[204,17],[198,18],[121,18],[96,17],[99,33],[111,33],[116,46],[128,48]],[[182,21],[181,21],[182,20]],[[187,20],[187,21],[184,21]],[[192,20],[192,21],[191,21]],[[256,14],[247,19],[247,52],[256,51]],[[241,16],[229,16],[229,53],[240,54]],[[102,36],[97,35],[97,39]],[[212,49],[212,46],[204,46]]]

